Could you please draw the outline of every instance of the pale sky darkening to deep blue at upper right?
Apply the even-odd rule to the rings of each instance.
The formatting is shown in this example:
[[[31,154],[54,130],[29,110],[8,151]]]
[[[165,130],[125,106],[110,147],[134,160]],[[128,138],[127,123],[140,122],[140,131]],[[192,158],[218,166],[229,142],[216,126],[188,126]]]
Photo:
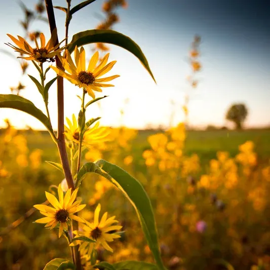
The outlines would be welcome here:
[[[33,8],[34,0],[23,1]],[[82,1],[72,0],[72,6]],[[53,1],[55,6],[65,1]],[[74,33],[93,29],[100,21],[103,1],[97,0],[73,15],[69,38]],[[203,127],[207,124],[225,125],[224,114],[233,102],[244,102],[249,116],[246,126],[270,125],[270,2],[267,0],[128,0],[127,10],[119,9],[121,22],[114,30],[129,35],[144,52],[157,85],[139,60],[122,48],[109,45],[110,60],[117,60],[111,74],[120,74],[114,88],[101,94],[109,95],[102,101],[101,109],[93,105],[88,117],[102,116],[102,124],[144,128],[151,124],[167,126],[172,113],[171,100],[176,103],[174,123],[183,120],[181,105],[186,91],[191,93],[190,123]],[[99,14],[99,15],[98,15]],[[58,32],[64,36],[64,13],[55,10]],[[17,1],[0,2],[0,49],[12,52],[4,45],[10,42],[6,33],[23,35],[19,20],[23,19]],[[34,23],[31,30],[42,30],[49,37],[49,27],[44,22]],[[199,72],[197,89],[190,89],[186,76],[190,73],[187,55],[195,34],[202,36],[200,46],[203,65]],[[93,46],[92,46],[93,47]],[[91,46],[86,49],[91,57]],[[13,52],[12,52],[13,53]],[[13,53],[17,56],[15,53]],[[26,89],[21,94],[44,110],[43,100],[31,80],[21,76],[17,60],[0,54],[0,93],[10,93],[10,86],[21,80]],[[31,63],[30,63],[31,64]],[[34,68],[28,73],[37,76]],[[50,76],[54,72],[51,71]],[[49,76],[49,78],[50,78]],[[53,126],[56,119],[56,88],[50,90],[50,110]],[[65,114],[78,113],[80,101],[76,94],[81,89],[65,83]],[[125,100],[129,103],[125,105]],[[120,110],[125,115],[121,120]],[[19,128],[42,124],[25,113],[0,109],[0,126],[10,118]]]

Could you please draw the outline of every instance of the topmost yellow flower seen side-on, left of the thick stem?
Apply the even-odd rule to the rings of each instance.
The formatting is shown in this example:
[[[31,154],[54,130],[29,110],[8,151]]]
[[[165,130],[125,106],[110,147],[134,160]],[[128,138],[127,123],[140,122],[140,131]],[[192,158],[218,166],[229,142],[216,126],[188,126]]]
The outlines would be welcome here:
[[[64,50],[65,47],[59,48],[60,44],[65,41],[62,40],[60,43],[58,43],[55,46],[56,38],[57,38],[57,32],[56,28],[52,32],[52,36],[48,43],[46,44],[45,36],[43,33],[40,34],[40,40],[41,40],[41,47],[38,46],[38,43],[36,41],[36,37],[34,38],[35,46],[36,48],[32,48],[27,41],[18,35],[18,40],[12,36],[11,34],[7,34],[11,40],[18,46],[14,46],[10,43],[6,43],[6,45],[10,46],[12,49],[15,50],[15,52],[21,53],[21,54],[27,54],[28,57],[18,57],[23,58],[25,60],[35,60],[40,63],[44,63],[46,61],[54,61],[53,58],[56,55],[59,55],[61,51]]]

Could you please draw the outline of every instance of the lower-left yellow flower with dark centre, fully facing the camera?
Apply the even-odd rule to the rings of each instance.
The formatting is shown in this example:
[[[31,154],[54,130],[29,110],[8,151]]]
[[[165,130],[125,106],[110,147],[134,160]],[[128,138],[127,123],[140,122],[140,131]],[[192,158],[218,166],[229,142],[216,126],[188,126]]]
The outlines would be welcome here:
[[[45,227],[50,227],[51,229],[54,228],[57,224],[60,224],[59,238],[61,237],[63,230],[67,230],[69,221],[71,219],[85,223],[85,221],[81,217],[74,215],[74,213],[81,211],[86,206],[85,204],[80,205],[81,201],[74,202],[77,192],[78,189],[75,189],[71,194],[71,188],[69,188],[64,197],[61,184],[59,184],[58,201],[54,195],[45,191],[47,200],[51,203],[53,207],[43,204],[34,205],[36,209],[40,210],[41,214],[46,216],[35,220],[35,222],[47,223]]]

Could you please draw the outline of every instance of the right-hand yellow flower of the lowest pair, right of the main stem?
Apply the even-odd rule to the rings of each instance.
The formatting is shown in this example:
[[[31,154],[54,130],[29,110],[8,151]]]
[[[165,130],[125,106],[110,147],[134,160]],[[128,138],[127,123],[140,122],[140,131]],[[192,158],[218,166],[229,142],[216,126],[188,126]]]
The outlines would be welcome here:
[[[112,242],[114,239],[121,237],[120,235],[113,233],[113,231],[122,228],[121,225],[112,225],[118,223],[118,220],[114,219],[115,216],[107,219],[108,213],[105,212],[99,221],[100,209],[101,206],[98,204],[94,213],[94,222],[90,223],[86,221],[86,225],[83,225],[84,232],[73,232],[75,235],[83,235],[96,241],[95,243],[83,242],[79,248],[82,253],[87,251],[88,255],[91,255],[93,249],[97,249],[99,245],[102,245],[104,249],[113,252],[107,242]]]

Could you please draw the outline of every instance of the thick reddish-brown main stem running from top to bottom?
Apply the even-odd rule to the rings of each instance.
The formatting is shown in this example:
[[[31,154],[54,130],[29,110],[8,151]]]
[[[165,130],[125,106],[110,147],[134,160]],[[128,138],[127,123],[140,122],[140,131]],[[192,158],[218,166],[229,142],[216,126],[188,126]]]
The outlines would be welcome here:
[[[55,17],[54,17],[54,10],[53,10],[53,3],[52,0],[45,0],[49,25],[51,33],[56,28],[55,23]],[[58,36],[56,35],[56,41],[55,45],[59,43]],[[60,69],[63,69],[62,63],[60,59],[56,56],[56,66]],[[57,78],[57,103],[58,103],[58,133],[57,133],[57,142],[58,142],[58,150],[60,154],[61,163],[63,166],[66,182],[68,185],[68,188],[71,188],[72,190],[75,189],[72,174],[70,171],[67,153],[66,153],[66,147],[65,147],[65,137],[64,137],[64,82],[63,77],[58,76]],[[73,220],[72,222],[73,229],[78,230],[79,224],[78,221]],[[72,230],[73,231],[73,230]],[[81,263],[81,256],[79,247],[75,246],[73,248],[74,251],[74,263],[76,265],[77,270],[82,269],[82,263]]]

